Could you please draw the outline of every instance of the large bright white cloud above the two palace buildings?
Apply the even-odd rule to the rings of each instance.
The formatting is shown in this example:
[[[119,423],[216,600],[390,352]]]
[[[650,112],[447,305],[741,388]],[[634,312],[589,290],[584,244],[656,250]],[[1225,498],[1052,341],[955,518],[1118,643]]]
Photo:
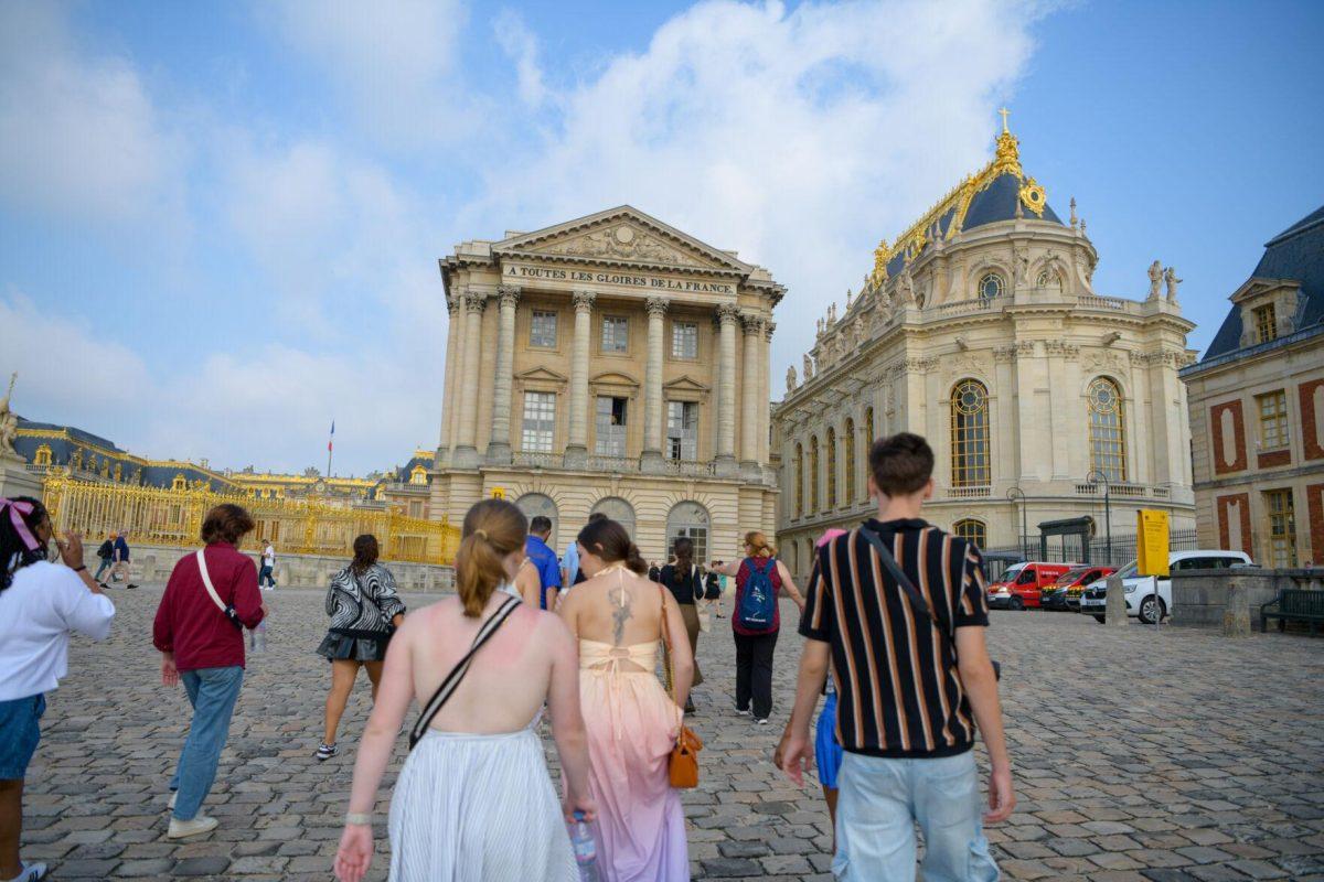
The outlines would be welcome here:
[[[630,202],[740,249],[790,287],[780,376],[826,300],[859,286],[878,239],[986,161],[993,108],[1031,52],[1033,12],[978,0],[699,4],[645,52],[552,95],[560,119],[531,153],[486,165],[474,218],[534,229]]]

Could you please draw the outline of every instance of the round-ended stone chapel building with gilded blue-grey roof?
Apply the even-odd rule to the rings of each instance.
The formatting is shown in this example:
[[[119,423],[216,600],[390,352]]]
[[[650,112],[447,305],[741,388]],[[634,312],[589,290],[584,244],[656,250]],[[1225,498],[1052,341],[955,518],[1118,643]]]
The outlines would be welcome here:
[[[1004,116],[993,160],[875,251],[858,296],[820,321],[775,409],[779,540],[796,573],[822,532],[866,516],[874,438],[910,430],[937,456],[929,518],[984,547],[1022,524],[1135,509],[1194,526],[1186,391],[1194,327],[1156,261],[1143,300],[1100,296],[1099,255],[1021,168]],[[1166,284],[1166,290],[1164,290]]]

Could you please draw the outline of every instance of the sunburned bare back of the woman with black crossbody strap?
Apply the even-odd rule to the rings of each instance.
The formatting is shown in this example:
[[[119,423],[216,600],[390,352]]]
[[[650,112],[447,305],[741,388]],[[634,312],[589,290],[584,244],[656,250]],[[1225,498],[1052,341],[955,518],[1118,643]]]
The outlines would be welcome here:
[[[442,600],[416,614],[426,618],[409,645],[418,707],[432,698],[441,681],[465,657],[482,623],[506,599],[504,594],[494,595],[477,619],[465,616],[455,599]],[[528,726],[547,700],[551,684],[555,635],[548,625],[552,624],[555,621],[547,612],[526,604],[516,608],[474,656],[469,673],[433,718],[432,727],[499,734]]]

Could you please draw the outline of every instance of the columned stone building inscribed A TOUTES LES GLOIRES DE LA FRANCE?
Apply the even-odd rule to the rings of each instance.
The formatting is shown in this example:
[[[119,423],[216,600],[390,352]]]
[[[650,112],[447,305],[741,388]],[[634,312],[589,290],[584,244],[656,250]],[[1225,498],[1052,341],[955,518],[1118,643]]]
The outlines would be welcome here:
[[[784,288],[629,206],[440,261],[450,332],[430,512],[502,496],[563,549],[605,512],[661,559],[773,532],[768,346]]]

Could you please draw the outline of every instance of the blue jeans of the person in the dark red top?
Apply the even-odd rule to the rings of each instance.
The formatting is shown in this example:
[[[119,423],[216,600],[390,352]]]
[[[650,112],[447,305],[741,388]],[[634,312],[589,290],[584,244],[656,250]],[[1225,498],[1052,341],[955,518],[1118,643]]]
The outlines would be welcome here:
[[[230,717],[244,684],[244,669],[238,665],[199,668],[183,670],[179,677],[184,681],[188,703],[193,705],[193,721],[188,726],[188,739],[184,741],[179,768],[169,788],[179,791],[175,817],[191,821],[216,780],[216,764],[230,734]]]

